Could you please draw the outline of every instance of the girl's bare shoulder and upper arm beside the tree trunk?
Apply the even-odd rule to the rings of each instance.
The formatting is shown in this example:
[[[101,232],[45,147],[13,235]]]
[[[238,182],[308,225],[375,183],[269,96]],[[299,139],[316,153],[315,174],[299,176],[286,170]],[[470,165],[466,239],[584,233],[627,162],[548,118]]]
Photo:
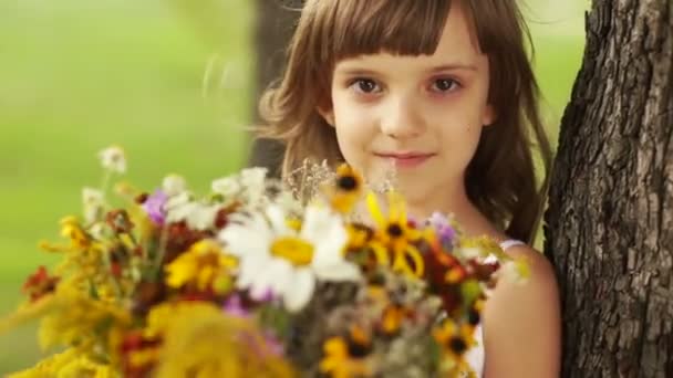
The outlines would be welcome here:
[[[488,376],[489,371],[491,375],[498,371],[507,377],[558,376],[561,321],[553,267],[542,253],[522,243],[509,245],[506,253],[526,260],[530,275],[524,284],[498,282],[486,302],[485,372]],[[521,364],[524,360],[526,364]]]

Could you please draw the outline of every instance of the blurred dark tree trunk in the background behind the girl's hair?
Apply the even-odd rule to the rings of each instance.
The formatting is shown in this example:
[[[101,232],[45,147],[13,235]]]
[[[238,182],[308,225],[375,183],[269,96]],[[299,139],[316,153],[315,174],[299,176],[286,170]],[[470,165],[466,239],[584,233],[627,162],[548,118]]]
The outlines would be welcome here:
[[[280,77],[284,69],[286,48],[299,18],[301,2],[301,0],[256,0],[257,70],[252,98],[259,98],[269,84]],[[257,103],[253,114],[257,124],[259,122]],[[282,154],[283,147],[280,143],[268,139],[255,140],[249,165],[267,167],[277,176],[280,174]]]

